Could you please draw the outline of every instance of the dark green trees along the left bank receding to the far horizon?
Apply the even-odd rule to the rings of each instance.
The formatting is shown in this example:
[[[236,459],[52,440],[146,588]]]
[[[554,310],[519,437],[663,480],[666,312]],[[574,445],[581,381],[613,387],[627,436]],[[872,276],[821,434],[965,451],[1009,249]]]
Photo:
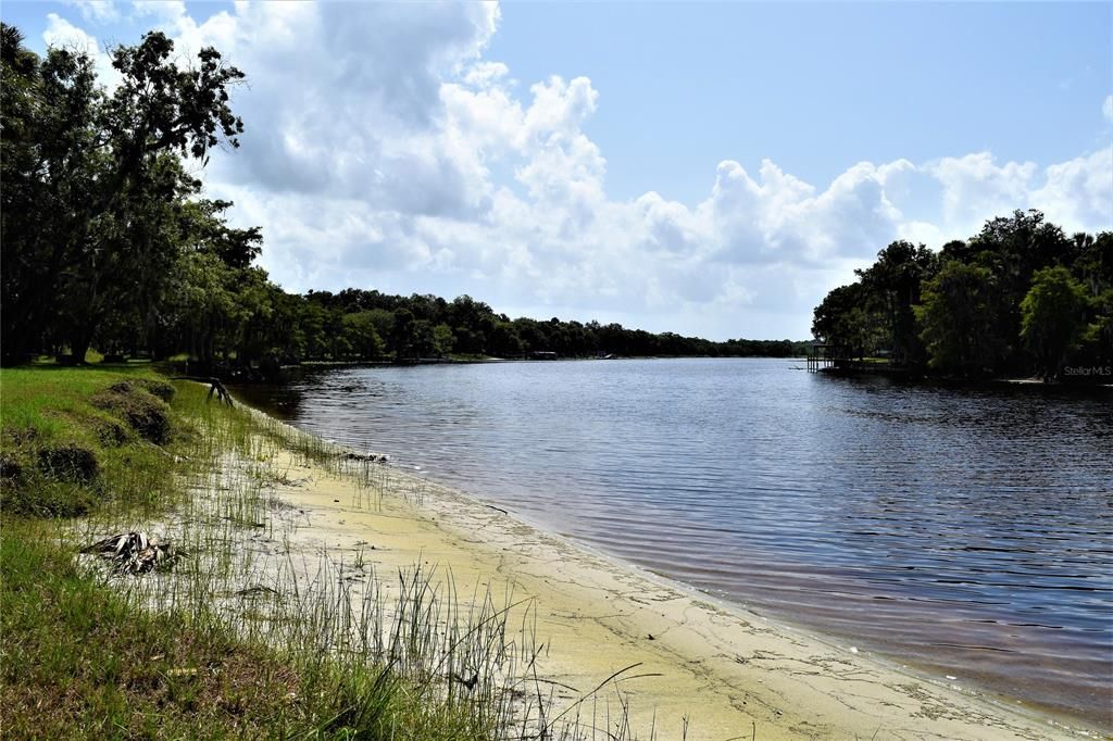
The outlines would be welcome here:
[[[119,47],[119,86],[92,60],[28,50],[2,26],[0,49],[0,322],[7,364],[49,353],[81,362],[187,353],[217,367],[299,360],[529,357],[791,356],[789,340],[725,343],[618,324],[511,319],[469,296],[376,290],[293,295],[255,266],[258,227],[227,223],[233,204],[194,176],[214,147],[238,146],[230,91],[243,72],[211,48],[189,65],[151,32]]]

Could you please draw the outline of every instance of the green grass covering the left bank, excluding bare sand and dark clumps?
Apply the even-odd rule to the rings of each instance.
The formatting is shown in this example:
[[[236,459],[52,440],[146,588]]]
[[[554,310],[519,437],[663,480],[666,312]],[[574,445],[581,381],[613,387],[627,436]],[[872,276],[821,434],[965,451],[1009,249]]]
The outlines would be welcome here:
[[[475,728],[474,713],[416,692],[417,683],[390,664],[304,651],[318,638],[313,632],[326,628],[319,618],[332,614],[327,603],[307,596],[301,605],[317,622],[272,615],[286,623],[270,628],[284,641],[245,638],[235,620],[208,609],[218,591],[213,580],[224,577],[232,589],[236,577],[211,566],[230,561],[214,547],[227,528],[199,523],[194,542],[211,563],[193,574],[183,570],[187,581],[171,587],[176,604],[168,610],[149,610],[149,593],[106,581],[104,570],[76,560],[73,523],[77,532],[104,532],[109,523],[181,507],[184,481],[211,474],[223,448],[250,446],[250,413],[208,403],[195,384],[178,385],[174,434],[162,445],[145,439],[128,415],[137,398],[159,403],[138,387],[149,382],[157,382],[149,367],[0,372],[0,455],[9,471],[19,470],[0,490],[4,734],[487,738],[491,729]],[[118,403],[98,403],[106,395]],[[124,433],[106,435],[106,427]],[[216,438],[203,434],[216,431]],[[42,464],[43,452],[75,448],[92,456],[95,471],[75,475]],[[227,511],[235,506],[244,505],[233,497]],[[76,515],[87,520],[57,518]]]

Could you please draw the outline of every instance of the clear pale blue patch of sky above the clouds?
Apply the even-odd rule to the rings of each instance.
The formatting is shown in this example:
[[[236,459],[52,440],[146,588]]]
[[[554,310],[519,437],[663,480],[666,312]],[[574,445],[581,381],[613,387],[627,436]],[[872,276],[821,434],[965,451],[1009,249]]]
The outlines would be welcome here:
[[[524,80],[591,78],[602,100],[584,128],[612,196],[691,200],[726,158],[825,182],[863,159],[1052,162],[1107,144],[1111,9],[518,3],[489,56]]]

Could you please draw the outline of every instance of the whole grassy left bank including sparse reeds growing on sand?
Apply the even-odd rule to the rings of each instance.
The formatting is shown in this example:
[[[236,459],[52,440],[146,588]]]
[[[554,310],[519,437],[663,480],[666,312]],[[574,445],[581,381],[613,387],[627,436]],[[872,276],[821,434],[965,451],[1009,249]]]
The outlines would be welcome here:
[[[578,734],[529,684],[522,604],[463,600],[427,567],[381,580],[364,553],[290,553],[277,449],[368,502],[388,467],[206,392],[142,366],[0,375],[4,735]],[[132,575],[79,555],[139,530],[184,557]]]

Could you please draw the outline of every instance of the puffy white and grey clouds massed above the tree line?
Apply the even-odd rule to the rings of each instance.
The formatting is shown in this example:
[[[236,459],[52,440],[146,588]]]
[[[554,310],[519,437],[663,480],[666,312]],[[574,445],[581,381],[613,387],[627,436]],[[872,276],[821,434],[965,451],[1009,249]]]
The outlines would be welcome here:
[[[82,6],[88,22],[120,12]],[[243,147],[206,178],[264,227],[262,261],[289,290],[469,293],[511,315],[800,338],[824,294],[893,239],[938,247],[1014,208],[1113,228],[1111,146],[1046,165],[848,162],[828,184],[725,160],[699,202],[612,199],[585,134],[605,91],[521,82],[486,59],[491,3],[237,3],[200,23],[183,3],[127,12],[248,72]],[[97,48],[56,16],[48,36]]]

